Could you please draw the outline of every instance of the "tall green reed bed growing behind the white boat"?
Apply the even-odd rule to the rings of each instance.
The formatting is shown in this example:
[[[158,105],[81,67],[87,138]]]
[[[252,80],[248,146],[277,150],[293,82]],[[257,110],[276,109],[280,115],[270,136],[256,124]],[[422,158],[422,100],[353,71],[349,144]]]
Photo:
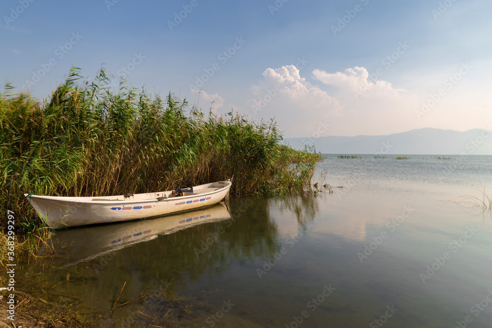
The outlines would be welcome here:
[[[273,121],[204,119],[186,100],[152,97],[124,81],[113,91],[104,69],[93,82],[79,79],[73,67],[43,101],[10,85],[0,94],[0,206],[15,212],[17,233],[45,227],[24,193],[146,193],[233,176],[233,195],[312,191],[321,156],[281,145]],[[0,220],[5,227],[6,215]]]

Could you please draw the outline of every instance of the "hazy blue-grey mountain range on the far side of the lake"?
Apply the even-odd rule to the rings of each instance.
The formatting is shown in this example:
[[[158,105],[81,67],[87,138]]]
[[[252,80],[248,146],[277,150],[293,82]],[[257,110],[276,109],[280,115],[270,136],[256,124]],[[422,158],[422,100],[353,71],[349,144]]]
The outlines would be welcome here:
[[[314,146],[326,154],[492,155],[492,131],[487,129],[423,128],[386,136],[285,138],[284,143],[294,149]]]

